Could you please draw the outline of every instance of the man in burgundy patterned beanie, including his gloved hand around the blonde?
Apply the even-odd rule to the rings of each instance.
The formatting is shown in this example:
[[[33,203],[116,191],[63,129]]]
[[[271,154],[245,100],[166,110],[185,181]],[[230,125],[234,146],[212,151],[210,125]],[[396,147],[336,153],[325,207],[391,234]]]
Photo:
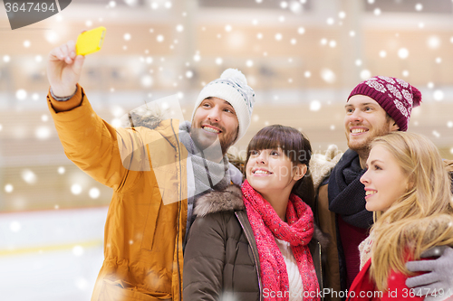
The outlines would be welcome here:
[[[373,223],[372,212],[365,209],[365,191],[360,182],[366,171],[371,141],[391,131],[406,131],[412,108],[418,107],[420,102],[419,89],[404,80],[385,76],[362,81],[352,89],[347,99],[344,127],[349,149],[335,165],[330,177],[320,185],[315,212],[322,230],[333,238],[333,246],[328,250],[331,268],[327,271],[333,291],[344,292],[351,286],[359,272],[359,244],[367,238]],[[451,255],[452,249],[443,252],[436,260],[437,265],[444,265],[446,261],[453,268]],[[441,273],[435,265],[423,268],[418,263],[411,262],[414,266],[408,268],[432,270],[436,275],[431,275],[429,281],[426,277],[411,277],[408,287],[428,287],[432,291],[434,287],[448,287],[453,283],[451,272]]]

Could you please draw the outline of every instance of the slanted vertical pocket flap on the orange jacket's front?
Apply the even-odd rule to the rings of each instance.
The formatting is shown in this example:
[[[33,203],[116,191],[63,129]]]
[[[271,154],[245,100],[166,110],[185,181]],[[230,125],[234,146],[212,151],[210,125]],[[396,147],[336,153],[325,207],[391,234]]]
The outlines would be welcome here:
[[[151,202],[148,207],[148,214],[145,222],[145,228],[143,229],[143,238],[141,240],[141,249],[155,250],[153,249],[154,237],[156,234],[156,228],[159,220],[160,206],[162,205],[161,196],[164,195],[164,189],[154,187],[153,193],[150,196]]]

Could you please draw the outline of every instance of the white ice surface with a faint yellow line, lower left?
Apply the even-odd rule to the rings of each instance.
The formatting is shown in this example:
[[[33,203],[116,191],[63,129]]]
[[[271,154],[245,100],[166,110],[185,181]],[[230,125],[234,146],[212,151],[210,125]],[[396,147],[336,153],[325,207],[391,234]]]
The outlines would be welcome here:
[[[0,214],[0,299],[89,300],[107,207]]]

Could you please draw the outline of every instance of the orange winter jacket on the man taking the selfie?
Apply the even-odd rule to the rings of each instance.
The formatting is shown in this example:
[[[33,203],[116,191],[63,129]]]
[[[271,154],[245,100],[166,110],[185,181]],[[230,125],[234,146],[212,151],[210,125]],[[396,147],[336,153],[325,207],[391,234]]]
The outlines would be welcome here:
[[[181,300],[188,153],[179,121],[111,127],[80,86],[67,101],[47,99],[65,154],[113,189],[92,301]]]

